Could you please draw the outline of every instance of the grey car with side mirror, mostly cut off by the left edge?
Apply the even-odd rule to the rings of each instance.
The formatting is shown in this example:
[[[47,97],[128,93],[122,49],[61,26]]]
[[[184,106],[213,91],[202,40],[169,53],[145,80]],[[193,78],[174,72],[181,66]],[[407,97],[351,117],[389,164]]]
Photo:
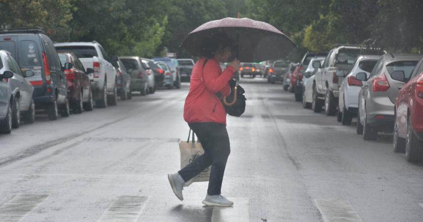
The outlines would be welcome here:
[[[0,67],[3,66],[0,60]],[[14,103],[12,90],[6,80],[13,77],[11,71],[0,71],[0,134],[12,131],[12,107]]]

